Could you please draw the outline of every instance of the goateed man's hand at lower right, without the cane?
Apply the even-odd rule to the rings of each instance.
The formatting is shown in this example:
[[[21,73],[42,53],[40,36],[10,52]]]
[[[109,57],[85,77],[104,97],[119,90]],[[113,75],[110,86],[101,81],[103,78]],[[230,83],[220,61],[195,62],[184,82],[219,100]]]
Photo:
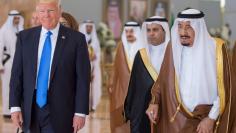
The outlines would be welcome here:
[[[197,127],[197,133],[213,133],[215,120],[204,118]]]

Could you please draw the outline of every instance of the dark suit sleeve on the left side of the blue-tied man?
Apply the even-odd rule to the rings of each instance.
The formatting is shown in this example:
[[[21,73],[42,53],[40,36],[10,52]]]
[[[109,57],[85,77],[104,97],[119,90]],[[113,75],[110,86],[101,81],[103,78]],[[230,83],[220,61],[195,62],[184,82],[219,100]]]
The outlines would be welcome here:
[[[10,80],[10,107],[21,107],[23,93],[23,63],[22,63],[22,40],[19,34],[16,42],[16,51],[13,60]]]

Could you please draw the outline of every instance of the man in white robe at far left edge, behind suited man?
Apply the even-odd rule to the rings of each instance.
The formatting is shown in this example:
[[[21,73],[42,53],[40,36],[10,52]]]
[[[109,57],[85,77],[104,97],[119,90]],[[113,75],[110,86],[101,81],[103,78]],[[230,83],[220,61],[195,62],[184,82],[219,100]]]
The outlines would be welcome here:
[[[23,30],[24,19],[16,10],[8,14],[6,22],[0,29],[0,74],[2,80],[2,114],[10,115],[9,82],[17,34]]]

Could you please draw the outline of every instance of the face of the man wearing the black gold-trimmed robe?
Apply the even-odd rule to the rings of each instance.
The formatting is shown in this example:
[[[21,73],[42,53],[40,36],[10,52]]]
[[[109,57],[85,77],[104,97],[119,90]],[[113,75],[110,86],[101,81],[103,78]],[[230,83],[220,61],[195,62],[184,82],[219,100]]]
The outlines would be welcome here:
[[[147,40],[155,46],[165,41],[165,31],[160,24],[147,24]]]

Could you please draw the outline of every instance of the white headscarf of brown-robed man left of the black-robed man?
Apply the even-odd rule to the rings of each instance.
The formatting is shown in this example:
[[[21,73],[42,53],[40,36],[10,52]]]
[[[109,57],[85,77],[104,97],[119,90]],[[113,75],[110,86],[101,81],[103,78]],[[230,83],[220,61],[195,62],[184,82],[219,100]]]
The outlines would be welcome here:
[[[127,41],[126,33],[125,33],[126,29],[133,29],[133,31],[134,31],[134,36],[135,36],[136,40],[132,44]],[[122,39],[122,44],[124,46],[126,55],[133,62],[134,57],[135,57],[136,53],[138,52],[138,50],[143,48],[142,40],[141,40],[142,36],[141,36],[140,25],[137,22],[127,22],[124,26],[124,30],[121,35],[121,39]]]

